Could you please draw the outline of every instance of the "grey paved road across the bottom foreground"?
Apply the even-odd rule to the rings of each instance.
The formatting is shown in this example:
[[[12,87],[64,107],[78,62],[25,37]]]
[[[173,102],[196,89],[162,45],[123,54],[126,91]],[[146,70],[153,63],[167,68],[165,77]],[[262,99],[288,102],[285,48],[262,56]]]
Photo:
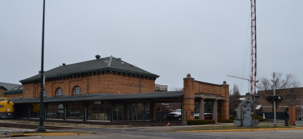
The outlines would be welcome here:
[[[105,131],[105,130],[103,130]],[[302,130],[280,131],[234,131],[234,132],[142,132],[142,131],[117,131],[108,130],[100,135],[79,136],[32,136],[11,137],[11,139],[302,139]]]

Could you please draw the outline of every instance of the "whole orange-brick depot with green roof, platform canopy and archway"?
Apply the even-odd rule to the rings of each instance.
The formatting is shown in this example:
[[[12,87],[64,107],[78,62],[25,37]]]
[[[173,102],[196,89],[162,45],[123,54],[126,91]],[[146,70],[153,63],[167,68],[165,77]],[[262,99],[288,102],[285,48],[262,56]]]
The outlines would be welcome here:
[[[112,56],[45,71],[46,119],[143,121],[155,120],[156,103],[181,102],[182,122],[194,119],[195,102],[213,101],[213,119],[228,119],[228,87],[195,81],[188,74],[182,91],[155,92],[159,77]],[[40,74],[21,80],[22,91],[4,92],[15,103],[15,117],[39,118]],[[203,113],[203,112],[201,112]],[[187,114],[187,116],[186,116]],[[200,117],[204,119],[204,117]]]

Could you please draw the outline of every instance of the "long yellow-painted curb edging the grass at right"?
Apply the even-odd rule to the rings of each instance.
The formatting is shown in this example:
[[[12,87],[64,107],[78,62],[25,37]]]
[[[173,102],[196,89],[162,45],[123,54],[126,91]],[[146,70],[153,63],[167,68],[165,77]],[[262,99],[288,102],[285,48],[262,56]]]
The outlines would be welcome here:
[[[216,132],[216,131],[266,131],[266,130],[299,130],[303,127],[295,128],[257,128],[257,129],[228,129],[228,130],[198,130],[198,131],[177,131],[177,132]]]

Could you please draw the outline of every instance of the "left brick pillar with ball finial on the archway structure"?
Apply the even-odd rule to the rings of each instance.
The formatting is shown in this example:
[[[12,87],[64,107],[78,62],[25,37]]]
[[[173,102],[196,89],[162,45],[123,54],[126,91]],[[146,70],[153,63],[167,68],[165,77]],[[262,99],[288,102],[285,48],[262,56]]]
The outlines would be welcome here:
[[[187,120],[194,119],[195,112],[195,92],[194,92],[194,82],[195,79],[190,77],[190,74],[187,74],[187,77],[183,78],[183,124],[186,124],[186,112]]]

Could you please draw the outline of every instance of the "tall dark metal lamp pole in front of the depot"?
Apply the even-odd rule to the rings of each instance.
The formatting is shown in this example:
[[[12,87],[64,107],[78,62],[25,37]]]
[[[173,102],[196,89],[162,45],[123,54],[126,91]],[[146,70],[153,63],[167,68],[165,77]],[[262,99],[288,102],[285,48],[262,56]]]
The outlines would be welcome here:
[[[44,109],[43,109],[43,90],[44,90],[44,72],[43,72],[43,59],[44,59],[44,15],[45,15],[45,0],[43,0],[43,19],[42,19],[42,52],[41,52],[41,78],[40,78],[40,119],[38,131],[45,131],[43,125]]]

